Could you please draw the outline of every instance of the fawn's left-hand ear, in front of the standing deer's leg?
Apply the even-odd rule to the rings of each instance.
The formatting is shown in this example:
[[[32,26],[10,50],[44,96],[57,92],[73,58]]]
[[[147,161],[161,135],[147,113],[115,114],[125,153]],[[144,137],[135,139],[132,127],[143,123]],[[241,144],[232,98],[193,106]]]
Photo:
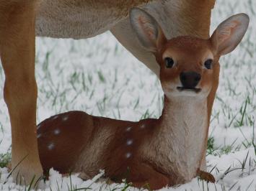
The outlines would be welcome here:
[[[130,11],[130,22],[141,45],[150,52],[156,53],[167,42],[161,27],[154,17],[143,9],[133,8]]]

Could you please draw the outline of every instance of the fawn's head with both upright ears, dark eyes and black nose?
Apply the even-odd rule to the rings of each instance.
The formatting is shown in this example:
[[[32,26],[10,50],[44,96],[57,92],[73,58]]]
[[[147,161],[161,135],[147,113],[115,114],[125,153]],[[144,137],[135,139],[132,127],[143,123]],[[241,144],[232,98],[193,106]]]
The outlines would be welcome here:
[[[182,36],[168,40],[146,11],[131,9],[130,20],[141,45],[156,57],[167,97],[206,98],[214,80],[213,71],[219,67],[219,57],[237,47],[249,24],[247,14],[237,14],[219,24],[209,39]]]

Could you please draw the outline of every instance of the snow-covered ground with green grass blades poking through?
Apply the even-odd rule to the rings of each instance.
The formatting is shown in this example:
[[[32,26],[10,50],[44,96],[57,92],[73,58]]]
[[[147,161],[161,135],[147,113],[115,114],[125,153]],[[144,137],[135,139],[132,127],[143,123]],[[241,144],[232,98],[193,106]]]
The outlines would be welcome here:
[[[162,190],[256,190],[256,1],[217,0],[211,29],[231,14],[250,15],[242,43],[221,58],[219,90],[213,106],[208,141],[208,171],[216,184],[195,178],[186,185]],[[82,110],[96,116],[137,121],[157,118],[162,112],[159,80],[127,52],[110,32],[93,39],[37,38],[37,122],[56,113]],[[0,69],[1,86],[4,72]],[[0,160],[9,158],[11,129],[0,92]],[[102,172],[101,172],[102,173]],[[25,190],[0,169],[0,190]],[[100,177],[100,175],[99,175]],[[127,183],[83,182],[76,175],[62,178],[50,171],[45,190],[133,190]],[[86,189],[84,189],[86,190]]]

